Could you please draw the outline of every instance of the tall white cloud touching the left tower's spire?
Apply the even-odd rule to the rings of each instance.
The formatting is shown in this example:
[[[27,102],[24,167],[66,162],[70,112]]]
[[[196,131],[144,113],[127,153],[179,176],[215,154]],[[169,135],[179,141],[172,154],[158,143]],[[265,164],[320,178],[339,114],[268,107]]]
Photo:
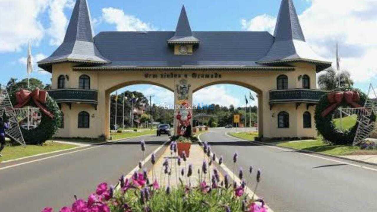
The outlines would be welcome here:
[[[50,45],[59,46],[64,39],[68,26],[68,18],[64,14],[65,8],[74,7],[73,0],[51,0],[49,7],[50,28],[47,29],[50,35]]]

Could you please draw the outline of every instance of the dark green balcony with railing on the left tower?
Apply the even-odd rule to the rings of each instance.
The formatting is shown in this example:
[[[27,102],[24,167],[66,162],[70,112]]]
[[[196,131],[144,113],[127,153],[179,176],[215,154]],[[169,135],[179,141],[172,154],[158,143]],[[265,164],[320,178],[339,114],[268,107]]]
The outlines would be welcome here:
[[[48,93],[57,103],[98,104],[97,90],[67,88],[49,90]]]

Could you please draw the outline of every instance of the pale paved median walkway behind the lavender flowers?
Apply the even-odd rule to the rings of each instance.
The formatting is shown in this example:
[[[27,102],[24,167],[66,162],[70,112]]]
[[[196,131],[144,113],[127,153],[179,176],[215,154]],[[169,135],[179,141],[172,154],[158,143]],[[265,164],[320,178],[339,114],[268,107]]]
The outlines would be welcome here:
[[[164,169],[162,168],[162,164],[164,163],[164,161],[166,159],[168,159],[168,161],[169,161],[169,171],[170,171],[170,169],[172,171],[171,172],[172,174],[170,176],[170,186],[176,186],[177,183],[180,184],[179,178],[182,179],[182,182],[184,184],[191,182],[192,186],[198,185],[198,180],[199,180],[198,169],[200,169],[200,172],[202,172],[203,160],[205,160],[207,162],[207,170],[208,171],[207,171],[207,175],[205,176],[207,184],[208,184],[208,172],[211,173],[211,176],[213,175],[214,165],[212,163],[212,165],[208,168],[208,160],[209,159],[208,159],[207,155],[204,155],[204,152],[203,152],[202,148],[199,146],[199,144],[193,143],[191,145],[190,157],[187,158],[186,166],[185,166],[183,159],[181,159],[181,166],[178,166],[178,163],[177,163],[178,159],[174,155],[174,153],[171,154],[170,147],[168,146],[166,148],[166,150],[164,151],[164,153],[161,155],[161,157],[156,161],[156,164],[155,164],[154,179],[157,179],[158,183],[162,187],[164,187],[164,186],[166,187],[169,184],[168,175],[164,174]],[[186,167],[185,172],[187,172],[189,164],[193,165],[193,173],[192,173],[192,176],[191,176],[190,179],[185,177],[187,175],[186,173],[185,173],[184,177],[182,177],[182,175],[181,175],[182,168]],[[220,179],[222,180],[223,176],[221,175],[221,172],[219,171],[218,173],[219,173]],[[176,177],[177,175],[178,175],[178,178]],[[148,178],[149,179],[153,178],[152,170],[149,172]],[[204,178],[204,176],[202,178]]]

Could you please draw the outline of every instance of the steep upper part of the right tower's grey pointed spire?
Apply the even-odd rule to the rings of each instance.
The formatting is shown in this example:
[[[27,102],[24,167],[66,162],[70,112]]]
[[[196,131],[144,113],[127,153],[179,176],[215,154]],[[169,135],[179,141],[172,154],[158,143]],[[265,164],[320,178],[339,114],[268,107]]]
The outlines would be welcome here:
[[[305,41],[293,0],[282,0],[277,17],[274,37],[280,40]]]

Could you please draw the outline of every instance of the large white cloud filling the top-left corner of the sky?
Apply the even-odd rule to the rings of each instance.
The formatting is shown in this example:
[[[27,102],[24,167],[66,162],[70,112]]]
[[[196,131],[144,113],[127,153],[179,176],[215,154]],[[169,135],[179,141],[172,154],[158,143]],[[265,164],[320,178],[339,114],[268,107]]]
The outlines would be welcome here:
[[[48,1],[0,1],[0,52],[20,51],[29,40],[38,43],[43,38],[43,26],[37,18],[45,11]]]

